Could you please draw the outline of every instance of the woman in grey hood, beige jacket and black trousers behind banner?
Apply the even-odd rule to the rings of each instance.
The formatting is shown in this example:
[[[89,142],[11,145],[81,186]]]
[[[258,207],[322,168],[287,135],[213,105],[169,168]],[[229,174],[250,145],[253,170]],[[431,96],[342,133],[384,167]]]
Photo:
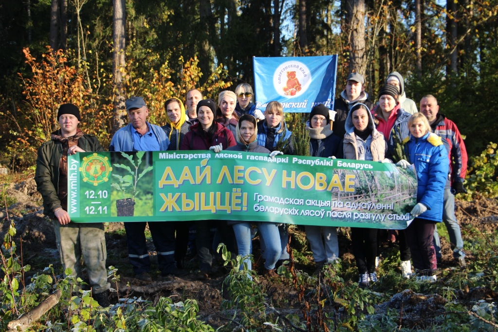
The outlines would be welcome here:
[[[351,108],[345,128],[344,159],[391,162],[385,158],[387,142],[375,129],[372,113],[366,105],[358,103]],[[356,266],[360,272],[360,287],[368,287],[369,282],[377,281],[377,229],[353,227],[351,241]]]

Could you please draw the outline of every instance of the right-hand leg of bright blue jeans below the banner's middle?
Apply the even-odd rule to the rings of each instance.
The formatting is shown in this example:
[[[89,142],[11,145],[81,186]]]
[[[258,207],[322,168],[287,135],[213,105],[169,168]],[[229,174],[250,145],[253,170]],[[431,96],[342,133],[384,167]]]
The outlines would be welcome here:
[[[261,256],[265,259],[264,268],[271,270],[282,256],[282,243],[280,231],[274,222],[258,222],[259,239],[261,243]],[[285,241],[287,244],[287,241]],[[287,253],[287,251],[285,251]],[[288,256],[288,254],[287,254]],[[284,259],[284,258],[281,258]]]

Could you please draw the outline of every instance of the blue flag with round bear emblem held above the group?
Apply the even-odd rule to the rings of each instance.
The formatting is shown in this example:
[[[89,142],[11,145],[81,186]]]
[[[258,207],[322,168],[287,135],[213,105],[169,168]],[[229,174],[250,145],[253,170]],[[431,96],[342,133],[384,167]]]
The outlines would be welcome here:
[[[256,108],[277,101],[284,112],[310,112],[324,104],[333,109],[337,55],[253,57]]]

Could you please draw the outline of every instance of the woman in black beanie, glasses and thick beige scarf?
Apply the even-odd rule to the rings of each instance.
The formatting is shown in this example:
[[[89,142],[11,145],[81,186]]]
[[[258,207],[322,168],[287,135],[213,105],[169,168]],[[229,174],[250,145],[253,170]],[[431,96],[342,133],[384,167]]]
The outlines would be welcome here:
[[[329,111],[328,107],[320,104],[310,112],[309,126],[306,125],[306,130],[310,136],[309,152],[312,157],[342,158],[341,138],[333,135]],[[325,263],[332,263],[339,257],[337,227],[306,225],[304,229],[317,271],[321,270]]]

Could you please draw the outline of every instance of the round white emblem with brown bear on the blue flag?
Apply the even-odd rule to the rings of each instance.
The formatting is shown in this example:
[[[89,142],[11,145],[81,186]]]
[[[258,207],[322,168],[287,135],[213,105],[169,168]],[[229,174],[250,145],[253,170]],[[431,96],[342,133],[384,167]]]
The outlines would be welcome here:
[[[282,97],[298,97],[308,89],[310,83],[311,71],[299,61],[284,62],[273,74],[273,86]]]

